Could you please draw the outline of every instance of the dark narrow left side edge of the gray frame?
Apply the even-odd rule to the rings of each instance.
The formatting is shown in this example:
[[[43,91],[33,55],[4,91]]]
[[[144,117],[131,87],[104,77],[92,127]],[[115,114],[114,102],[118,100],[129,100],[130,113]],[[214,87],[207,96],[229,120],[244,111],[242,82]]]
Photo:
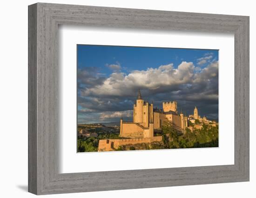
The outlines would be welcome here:
[[[37,6],[28,9],[28,191],[37,193]]]

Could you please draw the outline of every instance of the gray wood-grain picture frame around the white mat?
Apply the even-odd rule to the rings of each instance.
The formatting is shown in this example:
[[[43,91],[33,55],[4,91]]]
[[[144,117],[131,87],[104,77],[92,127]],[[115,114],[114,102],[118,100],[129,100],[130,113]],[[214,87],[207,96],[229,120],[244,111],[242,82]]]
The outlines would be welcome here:
[[[58,172],[58,25],[235,35],[235,164]],[[28,6],[28,191],[91,192],[249,181],[249,17],[37,3]],[[221,85],[220,85],[221,86]]]

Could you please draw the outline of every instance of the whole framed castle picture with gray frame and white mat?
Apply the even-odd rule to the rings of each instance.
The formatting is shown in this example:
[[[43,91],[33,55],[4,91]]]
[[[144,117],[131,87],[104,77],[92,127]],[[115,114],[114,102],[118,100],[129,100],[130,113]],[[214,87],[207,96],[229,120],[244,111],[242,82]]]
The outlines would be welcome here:
[[[37,3],[28,19],[29,192],[249,181],[249,17]]]

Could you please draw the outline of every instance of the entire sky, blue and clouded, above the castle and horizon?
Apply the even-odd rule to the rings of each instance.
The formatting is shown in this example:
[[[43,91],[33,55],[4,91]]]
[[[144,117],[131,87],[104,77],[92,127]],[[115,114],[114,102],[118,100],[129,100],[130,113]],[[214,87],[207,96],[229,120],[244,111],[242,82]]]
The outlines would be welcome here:
[[[131,120],[137,89],[218,118],[218,50],[77,45],[77,66],[78,123]]]

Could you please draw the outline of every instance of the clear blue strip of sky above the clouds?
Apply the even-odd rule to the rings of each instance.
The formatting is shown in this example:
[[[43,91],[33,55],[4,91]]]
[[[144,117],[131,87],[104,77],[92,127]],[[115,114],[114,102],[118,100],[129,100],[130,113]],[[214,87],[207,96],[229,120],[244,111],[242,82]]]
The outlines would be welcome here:
[[[174,67],[184,60],[194,62],[206,53],[218,60],[218,50],[199,50],[181,48],[129,47],[108,45],[77,45],[78,67],[99,67],[102,73],[109,75],[111,70],[106,64],[121,64],[122,71],[147,70],[159,65],[173,63]],[[207,64],[202,64],[205,67]]]

